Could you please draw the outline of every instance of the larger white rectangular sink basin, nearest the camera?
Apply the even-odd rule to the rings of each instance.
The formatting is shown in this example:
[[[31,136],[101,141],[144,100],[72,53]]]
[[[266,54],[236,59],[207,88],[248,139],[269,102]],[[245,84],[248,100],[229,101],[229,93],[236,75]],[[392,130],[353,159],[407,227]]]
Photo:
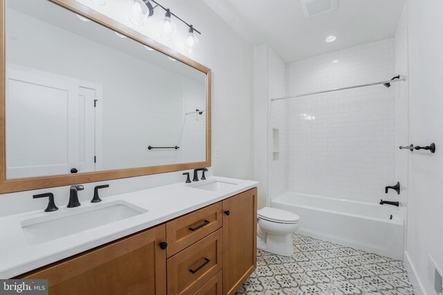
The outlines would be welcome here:
[[[28,244],[36,245],[48,242],[147,212],[147,210],[125,201],[70,210],[72,212],[51,213],[51,215],[22,221],[21,229]]]

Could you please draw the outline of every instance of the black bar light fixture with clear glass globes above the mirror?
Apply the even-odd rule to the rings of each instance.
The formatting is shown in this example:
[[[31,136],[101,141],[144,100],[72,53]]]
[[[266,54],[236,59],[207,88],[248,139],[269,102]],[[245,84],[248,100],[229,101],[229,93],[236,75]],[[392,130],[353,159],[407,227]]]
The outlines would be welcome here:
[[[91,0],[91,1],[104,1],[104,0]],[[165,17],[159,21],[159,35],[161,39],[170,41],[177,33],[177,24],[174,23],[172,17],[178,19],[182,23],[188,26],[188,36],[185,39],[185,50],[188,53],[193,53],[197,49],[199,39],[197,34],[201,35],[199,30],[195,29],[192,25],[175,15],[169,8],[165,8],[156,0],[127,0],[128,1],[128,17],[131,23],[136,26],[143,26],[147,17],[154,15],[156,8],[165,10]]]

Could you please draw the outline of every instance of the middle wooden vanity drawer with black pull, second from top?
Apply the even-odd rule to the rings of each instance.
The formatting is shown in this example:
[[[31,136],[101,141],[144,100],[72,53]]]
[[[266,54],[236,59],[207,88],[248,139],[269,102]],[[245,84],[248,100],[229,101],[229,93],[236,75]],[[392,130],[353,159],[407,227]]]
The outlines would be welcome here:
[[[168,259],[168,294],[194,294],[222,266],[221,229]]]

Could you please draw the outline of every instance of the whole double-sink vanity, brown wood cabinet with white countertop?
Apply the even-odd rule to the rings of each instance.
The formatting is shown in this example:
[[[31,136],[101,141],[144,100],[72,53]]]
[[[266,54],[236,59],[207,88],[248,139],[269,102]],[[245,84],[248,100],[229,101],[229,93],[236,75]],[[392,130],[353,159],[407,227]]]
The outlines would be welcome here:
[[[5,216],[0,276],[50,294],[235,294],[255,269],[256,185],[212,176]]]

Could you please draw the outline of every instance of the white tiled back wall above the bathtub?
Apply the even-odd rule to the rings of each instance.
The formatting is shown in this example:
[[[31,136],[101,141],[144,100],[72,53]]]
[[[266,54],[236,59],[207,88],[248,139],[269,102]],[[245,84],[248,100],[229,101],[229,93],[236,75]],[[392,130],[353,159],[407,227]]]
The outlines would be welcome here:
[[[332,63],[338,59],[338,63]],[[395,76],[385,39],[287,64],[287,95]],[[279,104],[277,102],[276,104]],[[394,95],[382,85],[287,101],[287,189],[350,200],[397,200]]]

